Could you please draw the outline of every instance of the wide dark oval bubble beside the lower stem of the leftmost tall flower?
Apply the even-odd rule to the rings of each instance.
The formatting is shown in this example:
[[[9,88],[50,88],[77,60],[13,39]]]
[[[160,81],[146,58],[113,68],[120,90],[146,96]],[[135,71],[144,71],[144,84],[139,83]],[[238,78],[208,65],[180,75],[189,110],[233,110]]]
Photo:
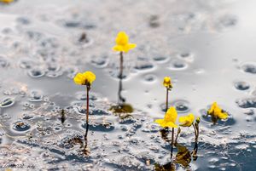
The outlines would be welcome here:
[[[86,128],[86,123],[82,124],[83,128]],[[105,120],[104,118],[90,122],[89,129],[91,131],[109,132],[113,131],[114,125],[112,122]]]

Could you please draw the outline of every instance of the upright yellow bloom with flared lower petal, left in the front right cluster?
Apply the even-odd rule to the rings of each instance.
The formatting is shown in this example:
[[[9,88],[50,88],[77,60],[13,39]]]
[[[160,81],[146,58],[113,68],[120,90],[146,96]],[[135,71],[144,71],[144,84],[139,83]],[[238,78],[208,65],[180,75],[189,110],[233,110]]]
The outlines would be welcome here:
[[[175,124],[177,119],[177,111],[175,107],[170,107],[168,111],[166,111],[166,115],[164,119],[156,119],[154,123],[160,124],[161,127],[171,127],[171,128],[177,128],[177,124]]]

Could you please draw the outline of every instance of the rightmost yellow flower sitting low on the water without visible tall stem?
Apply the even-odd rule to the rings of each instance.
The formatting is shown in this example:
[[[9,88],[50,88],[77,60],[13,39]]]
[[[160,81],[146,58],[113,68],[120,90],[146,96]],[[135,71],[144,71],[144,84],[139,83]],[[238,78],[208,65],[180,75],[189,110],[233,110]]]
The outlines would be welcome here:
[[[227,112],[218,106],[216,101],[212,103],[211,108],[207,111],[207,115],[212,116],[213,124],[217,123],[219,119],[227,119],[229,116]]]

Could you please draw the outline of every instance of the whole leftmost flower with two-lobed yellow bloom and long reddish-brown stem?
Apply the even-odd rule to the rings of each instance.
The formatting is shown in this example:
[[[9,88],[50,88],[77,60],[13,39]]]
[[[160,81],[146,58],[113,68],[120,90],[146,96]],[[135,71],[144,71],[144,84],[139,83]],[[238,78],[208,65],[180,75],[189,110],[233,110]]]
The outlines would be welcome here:
[[[84,73],[78,73],[73,81],[76,84],[86,86],[86,131],[84,134],[84,151],[87,151],[87,134],[89,129],[89,91],[91,88],[91,84],[96,80],[96,75],[91,71],[85,71]]]

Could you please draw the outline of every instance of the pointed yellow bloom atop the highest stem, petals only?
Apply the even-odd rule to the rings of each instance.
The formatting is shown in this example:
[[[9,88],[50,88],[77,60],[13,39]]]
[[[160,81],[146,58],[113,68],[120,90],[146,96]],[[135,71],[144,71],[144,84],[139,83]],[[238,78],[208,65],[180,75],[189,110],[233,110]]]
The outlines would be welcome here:
[[[119,31],[118,36],[115,38],[115,43],[116,45],[113,47],[113,50],[125,53],[137,46],[134,43],[129,43],[129,37],[126,35],[125,31]]]

